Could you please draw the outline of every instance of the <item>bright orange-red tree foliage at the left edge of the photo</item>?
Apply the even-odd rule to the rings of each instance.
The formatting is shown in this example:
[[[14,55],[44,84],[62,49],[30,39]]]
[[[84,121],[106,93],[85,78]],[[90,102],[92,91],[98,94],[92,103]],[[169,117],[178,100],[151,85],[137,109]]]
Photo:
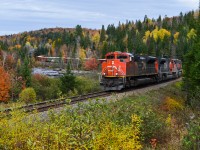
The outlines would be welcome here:
[[[10,97],[9,91],[11,88],[10,76],[0,66],[0,101],[8,101]]]

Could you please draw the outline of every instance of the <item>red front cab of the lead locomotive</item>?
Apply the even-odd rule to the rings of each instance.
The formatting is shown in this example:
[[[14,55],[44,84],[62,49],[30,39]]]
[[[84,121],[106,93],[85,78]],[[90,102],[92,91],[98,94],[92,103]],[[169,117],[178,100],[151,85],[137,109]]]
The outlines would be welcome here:
[[[105,90],[121,90],[125,87],[126,64],[133,59],[133,55],[123,52],[110,52],[102,63],[101,85]]]

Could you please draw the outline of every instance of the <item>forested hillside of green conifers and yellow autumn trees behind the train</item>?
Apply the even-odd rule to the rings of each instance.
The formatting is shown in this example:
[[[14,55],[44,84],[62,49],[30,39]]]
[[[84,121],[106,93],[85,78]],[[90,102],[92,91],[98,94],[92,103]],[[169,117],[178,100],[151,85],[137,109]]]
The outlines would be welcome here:
[[[65,56],[73,58],[103,58],[109,51],[168,56],[182,59],[196,36],[197,11],[179,16],[119,22],[91,30],[75,28],[45,28],[9,36],[0,36],[0,50],[22,59],[34,56]],[[3,58],[1,58],[3,59]]]

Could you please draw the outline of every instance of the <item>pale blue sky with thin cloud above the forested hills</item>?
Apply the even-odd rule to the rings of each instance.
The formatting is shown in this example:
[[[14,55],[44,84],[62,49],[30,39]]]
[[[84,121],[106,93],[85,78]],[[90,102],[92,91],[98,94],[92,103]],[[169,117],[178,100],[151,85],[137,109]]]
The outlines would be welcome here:
[[[120,21],[177,16],[199,0],[0,0],[0,35],[50,27],[91,29]]]

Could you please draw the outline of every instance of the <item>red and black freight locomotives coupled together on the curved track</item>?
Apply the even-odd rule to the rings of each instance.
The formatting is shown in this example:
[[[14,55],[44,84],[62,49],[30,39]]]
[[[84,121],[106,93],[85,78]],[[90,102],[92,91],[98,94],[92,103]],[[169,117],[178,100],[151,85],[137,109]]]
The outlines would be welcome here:
[[[178,78],[182,62],[178,59],[109,52],[102,62],[100,84],[104,90],[121,90],[149,82]]]

